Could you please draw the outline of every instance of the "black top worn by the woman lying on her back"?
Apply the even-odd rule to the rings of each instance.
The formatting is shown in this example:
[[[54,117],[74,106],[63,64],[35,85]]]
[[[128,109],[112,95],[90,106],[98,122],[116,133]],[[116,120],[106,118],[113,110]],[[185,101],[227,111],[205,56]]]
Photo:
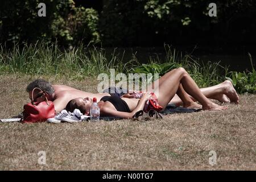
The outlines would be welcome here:
[[[115,106],[115,109],[121,112],[130,113],[130,109],[125,101],[123,101],[120,97],[117,96],[104,96],[101,98],[101,101],[109,101],[111,104]]]

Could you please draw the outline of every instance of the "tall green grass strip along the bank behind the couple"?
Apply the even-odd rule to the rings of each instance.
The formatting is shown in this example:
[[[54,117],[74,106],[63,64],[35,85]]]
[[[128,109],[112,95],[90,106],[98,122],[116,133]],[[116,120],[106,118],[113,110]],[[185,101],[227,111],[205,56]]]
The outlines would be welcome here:
[[[115,52],[107,55],[104,48],[93,44],[80,45],[72,49],[60,48],[57,43],[14,44],[7,49],[0,46],[0,74],[49,75],[67,80],[81,80],[97,77],[100,73],[110,74],[110,69],[118,73],[159,73],[163,76],[172,69],[184,67],[200,88],[219,84],[225,79],[233,81],[239,93],[255,93],[256,73],[228,72],[228,68],[211,61],[195,60],[191,55],[182,55],[165,45],[166,57],[149,57],[147,64],[140,64],[135,55],[129,61]],[[251,57],[250,57],[251,59]],[[251,61],[252,64],[252,61]],[[226,77],[225,77],[226,76]],[[151,77],[153,78],[153,77]]]

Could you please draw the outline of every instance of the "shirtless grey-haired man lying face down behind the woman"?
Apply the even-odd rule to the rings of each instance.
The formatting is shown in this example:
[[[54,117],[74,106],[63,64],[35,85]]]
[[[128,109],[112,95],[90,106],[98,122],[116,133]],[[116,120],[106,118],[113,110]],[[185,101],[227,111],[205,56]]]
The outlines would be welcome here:
[[[180,68],[181,69],[181,68]],[[176,69],[175,69],[176,70]],[[174,70],[174,71],[175,71]],[[168,80],[168,76],[171,72],[166,73],[166,76],[163,76],[159,78],[159,84],[162,82],[166,82]],[[168,82],[168,81],[167,81]],[[70,86],[65,85],[51,85],[48,81],[43,79],[38,79],[27,86],[27,92],[29,93],[29,97],[31,100],[31,94],[32,90],[34,88],[40,88],[44,92],[46,92],[46,97],[48,100],[53,101],[53,104],[55,105],[56,113],[59,113],[61,110],[65,109],[65,106],[68,104],[69,101],[77,98],[77,97],[89,97],[93,98],[96,97],[97,101],[100,101],[102,97],[104,96],[110,96],[109,93],[88,93],[84,92],[75,88],[72,88]],[[142,90],[146,91],[146,90]],[[148,92],[151,92],[152,90],[147,90]],[[221,84],[210,86],[208,88],[201,89],[201,92],[204,94],[207,98],[212,98],[214,100],[218,100],[221,103],[223,102],[235,102],[238,104],[239,98],[236,93],[236,90],[234,89],[232,83],[228,80],[222,82]],[[34,93],[37,94],[37,93]],[[134,98],[133,94],[127,93],[127,94],[120,94],[119,95],[122,98]],[[44,96],[42,96],[44,97]],[[40,100],[44,101],[44,98],[38,98],[38,102]],[[199,107],[198,104],[196,104],[197,101],[196,98],[189,96],[184,89],[183,84],[181,83],[179,85],[179,89],[177,90],[177,94],[172,98],[170,101],[170,104],[175,104],[176,106],[183,105],[183,107],[188,108],[195,108],[197,109]]]

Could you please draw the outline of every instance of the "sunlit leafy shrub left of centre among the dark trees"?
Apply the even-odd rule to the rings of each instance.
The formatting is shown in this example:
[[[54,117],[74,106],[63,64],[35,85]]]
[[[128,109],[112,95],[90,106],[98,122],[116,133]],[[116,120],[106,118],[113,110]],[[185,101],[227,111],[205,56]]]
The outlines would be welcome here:
[[[94,9],[71,6],[71,13],[63,18],[61,15],[52,23],[52,34],[61,45],[78,45],[80,43],[96,43],[100,40],[97,30],[98,13]]]

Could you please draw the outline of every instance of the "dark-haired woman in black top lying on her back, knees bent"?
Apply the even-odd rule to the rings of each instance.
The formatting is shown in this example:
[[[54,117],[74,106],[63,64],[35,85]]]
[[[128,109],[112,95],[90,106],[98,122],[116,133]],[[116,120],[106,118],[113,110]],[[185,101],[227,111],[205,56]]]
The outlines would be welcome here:
[[[182,86],[181,86],[182,84]],[[200,102],[203,110],[226,110],[228,107],[214,104],[201,92],[195,81],[189,76],[184,68],[177,68],[166,73],[159,79],[159,84],[155,85],[154,90],[158,96],[159,105],[163,109],[169,104],[177,93],[178,96],[182,92],[187,92],[193,98]],[[154,92],[154,90],[151,90]],[[121,117],[133,118],[134,114],[144,109],[145,102],[150,99],[151,94],[143,93],[140,99],[137,98],[120,98],[116,96],[105,96],[98,102],[101,116],[105,117]],[[181,96],[184,97],[184,96]],[[71,100],[66,109],[73,111],[79,109],[82,114],[89,115],[92,98],[75,98]]]

